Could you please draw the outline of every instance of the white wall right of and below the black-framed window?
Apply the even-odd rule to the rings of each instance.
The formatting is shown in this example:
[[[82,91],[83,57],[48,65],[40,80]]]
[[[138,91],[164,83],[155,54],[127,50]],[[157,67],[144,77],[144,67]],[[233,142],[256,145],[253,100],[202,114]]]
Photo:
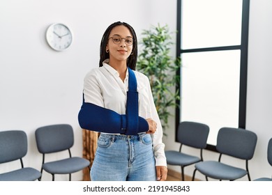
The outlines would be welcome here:
[[[252,179],[259,177],[270,177],[272,168],[267,161],[267,143],[272,137],[272,1],[251,0],[250,1],[250,26],[248,40],[248,93],[246,110],[246,128],[257,134],[257,147],[255,155],[249,163],[250,176]],[[174,123],[174,121],[173,121]],[[167,138],[167,150],[179,149],[179,144],[172,144],[174,130]],[[184,148],[186,152],[198,155],[199,153],[190,148]],[[218,154],[204,151],[204,159],[218,159]],[[244,167],[242,161],[231,157],[224,157],[229,162],[239,167]],[[170,169],[180,171],[179,167],[169,166]],[[194,166],[186,167],[186,174],[191,175]],[[196,178],[205,180],[201,173]],[[243,177],[239,180],[248,180]]]

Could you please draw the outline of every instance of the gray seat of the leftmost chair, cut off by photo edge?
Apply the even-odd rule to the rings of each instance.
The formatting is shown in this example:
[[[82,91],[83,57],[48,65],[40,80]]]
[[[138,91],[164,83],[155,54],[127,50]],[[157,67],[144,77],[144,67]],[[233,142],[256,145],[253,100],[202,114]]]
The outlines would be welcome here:
[[[34,181],[40,178],[40,171],[26,167],[0,174],[0,181]]]

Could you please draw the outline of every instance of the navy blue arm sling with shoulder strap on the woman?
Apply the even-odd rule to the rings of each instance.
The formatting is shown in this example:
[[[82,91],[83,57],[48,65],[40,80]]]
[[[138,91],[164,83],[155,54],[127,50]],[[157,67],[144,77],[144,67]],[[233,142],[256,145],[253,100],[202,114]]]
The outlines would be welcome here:
[[[128,68],[128,91],[126,115],[84,101],[78,114],[80,127],[85,130],[111,134],[135,135],[147,132],[147,121],[138,114],[137,79],[133,70]]]

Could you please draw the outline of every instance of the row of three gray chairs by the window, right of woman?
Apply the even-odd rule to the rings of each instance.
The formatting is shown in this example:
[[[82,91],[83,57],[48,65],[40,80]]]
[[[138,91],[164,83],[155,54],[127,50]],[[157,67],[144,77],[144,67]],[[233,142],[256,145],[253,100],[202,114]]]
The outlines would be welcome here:
[[[248,161],[252,159],[255,153],[257,135],[255,132],[241,128],[222,127],[218,132],[216,150],[219,153],[218,161],[204,161],[202,152],[206,148],[206,141],[209,136],[209,126],[203,123],[183,121],[179,124],[177,141],[181,143],[179,151],[165,151],[167,164],[181,166],[181,180],[184,180],[184,168],[195,164],[195,171],[192,180],[195,180],[195,173],[199,171],[208,178],[218,180],[237,180],[243,176],[248,176]],[[182,146],[189,146],[200,150],[200,155],[189,155],[181,151]],[[221,162],[222,155],[236,157],[245,160],[245,169],[241,169],[230,164]],[[272,166],[272,139],[268,147],[269,163]],[[264,178],[262,178],[264,180]],[[259,179],[259,180],[262,180]],[[265,180],[272,180],[265,178]]]

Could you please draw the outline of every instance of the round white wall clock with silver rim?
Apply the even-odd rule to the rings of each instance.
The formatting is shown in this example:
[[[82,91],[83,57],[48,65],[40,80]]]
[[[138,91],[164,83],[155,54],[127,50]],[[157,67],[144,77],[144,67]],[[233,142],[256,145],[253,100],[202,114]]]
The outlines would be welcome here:
[[[46,31],[46,40],[52,49],[63,51],[71,45],[73,36],[68,26],[61,23],[55,23],[48,27]]]

